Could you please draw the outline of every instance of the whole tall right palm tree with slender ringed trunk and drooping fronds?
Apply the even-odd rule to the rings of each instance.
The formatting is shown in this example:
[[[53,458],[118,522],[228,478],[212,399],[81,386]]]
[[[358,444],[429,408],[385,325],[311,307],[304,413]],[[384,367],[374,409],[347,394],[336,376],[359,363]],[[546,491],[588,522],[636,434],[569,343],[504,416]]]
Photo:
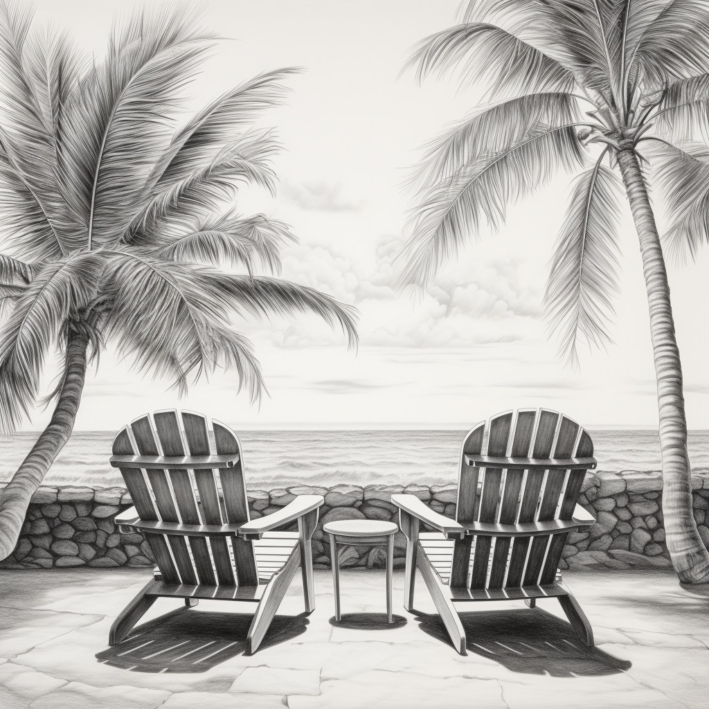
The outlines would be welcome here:
[[[709,581],[692,515],[682,369],[649,185],[669,207],[667,245],[709,238],[709,9],[703,0],[474,0],[457,26],[425,38],[418,79],[459,69],[486,86],[479,107],[435,140],[420,189],[402,284],[423,284],[481,223],[559,170],[576,174],[545,293],[560,350],[609,341],[618,291],[623,186],[640,240],[657,373],[667,547],[679,578]],[[622,182],[616,177],[620,170]]]

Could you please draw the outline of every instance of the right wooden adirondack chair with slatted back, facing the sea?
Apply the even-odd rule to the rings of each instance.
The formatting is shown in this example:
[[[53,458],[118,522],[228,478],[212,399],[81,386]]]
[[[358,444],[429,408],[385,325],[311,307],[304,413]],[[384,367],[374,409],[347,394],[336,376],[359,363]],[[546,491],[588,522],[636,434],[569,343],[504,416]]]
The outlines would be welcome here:
[[[471,601],[557,598],[576,634],[593,630],[557,571],[569,532],[596,520],[576,504],[593,442],[579,424],[545,409],[501,413],[462,445],[457,519],[413,495],[392,495],[407,537],[404,605],[413,610],[421,572],[454,647],[466,654],[456,606]],[[419,532],[424,522],[437,532]]]

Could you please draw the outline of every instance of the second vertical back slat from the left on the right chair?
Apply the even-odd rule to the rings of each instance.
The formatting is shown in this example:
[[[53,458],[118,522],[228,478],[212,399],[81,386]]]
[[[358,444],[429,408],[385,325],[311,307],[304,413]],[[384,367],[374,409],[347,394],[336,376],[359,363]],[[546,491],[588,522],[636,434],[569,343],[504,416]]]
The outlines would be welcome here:
[[[503,413],[490,420],[490,436],[487,454],[503,456],[507,454],[512,429],[512,413]],[[494,522],[498,504],[500,503],[501,468],[486,468],[483,479],[483,489],[480,496],[479,522]],[[488,567],[490,564],[490,549],[492,537],[476,537],[473,570],[470,577],[470,588],[485,588]]]

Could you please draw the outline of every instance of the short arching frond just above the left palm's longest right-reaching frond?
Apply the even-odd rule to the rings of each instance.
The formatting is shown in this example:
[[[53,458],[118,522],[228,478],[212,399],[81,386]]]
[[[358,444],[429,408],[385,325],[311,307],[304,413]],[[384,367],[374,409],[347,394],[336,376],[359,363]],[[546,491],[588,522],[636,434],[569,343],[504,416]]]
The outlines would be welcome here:
[[[251,274],[255,259],[271,273],[279,273],[279,250],[286,241],[294,241],[289,226],[269,220],[263,214],[238,218],[233,212],[211,218],[199,230],[170,241],[155,252],[160,259],[202,261],[218,265],[230,262],[242,264]]]

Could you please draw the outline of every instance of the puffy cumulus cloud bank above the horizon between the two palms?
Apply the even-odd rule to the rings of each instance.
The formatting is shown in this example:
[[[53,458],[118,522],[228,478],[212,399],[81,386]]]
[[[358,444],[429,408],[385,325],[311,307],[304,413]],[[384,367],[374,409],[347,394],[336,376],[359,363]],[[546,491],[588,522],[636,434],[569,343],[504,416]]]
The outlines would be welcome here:
[[[395,284],[402,246],[398,236],[382,237],[374,259],[365,262],[332,247],[299,244],[284,250],[282,275],[356,306],[362,345],[470,347],[540,334],[540,293],[530,286],[523,262],[474,261],[447,269],[423,291],[401,294]],[[279,324],[268,337],[282,347],[342,342],[340,333],[314,317]]]

